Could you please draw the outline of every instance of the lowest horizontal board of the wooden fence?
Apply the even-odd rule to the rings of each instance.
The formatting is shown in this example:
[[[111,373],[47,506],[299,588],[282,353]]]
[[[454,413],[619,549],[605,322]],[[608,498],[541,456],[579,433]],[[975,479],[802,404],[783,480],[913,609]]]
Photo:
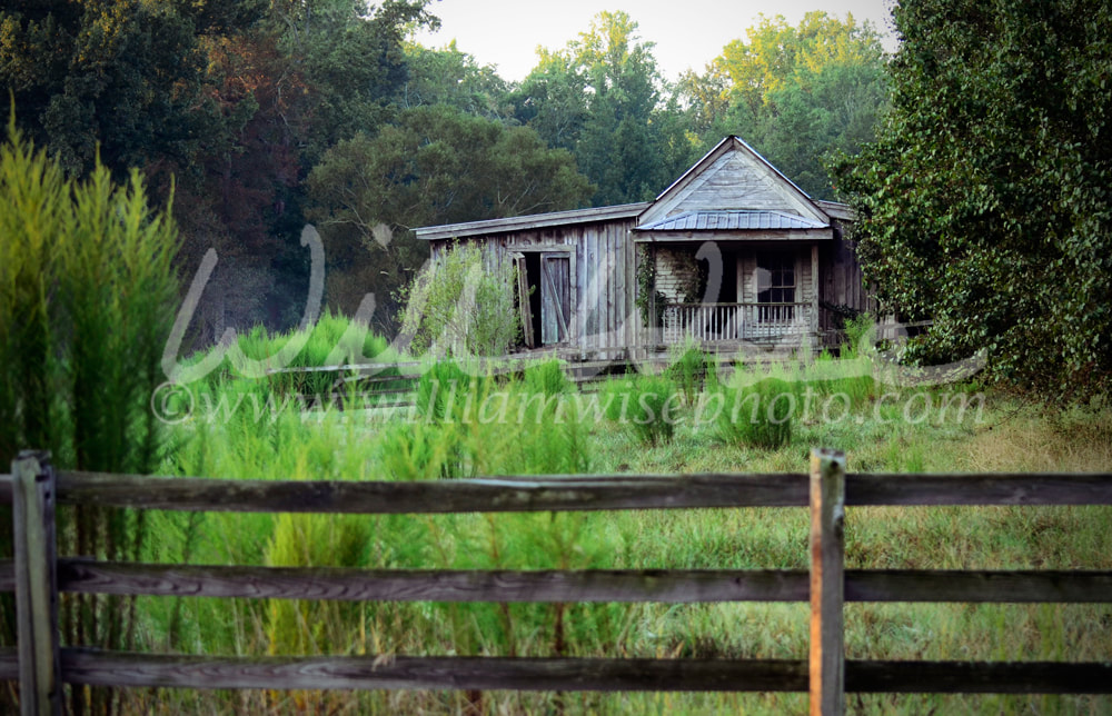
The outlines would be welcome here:
[[[0,650],[0,679],[18,674]],[[169,688],[806,692],[805,660],[208,657],[62,649],[69,684]],[[850,693],[1112,694],[1112,664],[847,660]]]

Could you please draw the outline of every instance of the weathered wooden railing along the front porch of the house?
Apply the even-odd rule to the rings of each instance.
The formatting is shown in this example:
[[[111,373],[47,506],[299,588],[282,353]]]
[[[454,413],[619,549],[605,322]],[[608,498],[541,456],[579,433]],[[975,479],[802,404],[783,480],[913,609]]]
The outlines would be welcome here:
[[[686,339],[780,340],[812,331],[812,305],[794,304],[672,304],[664,308],[664,342]]]

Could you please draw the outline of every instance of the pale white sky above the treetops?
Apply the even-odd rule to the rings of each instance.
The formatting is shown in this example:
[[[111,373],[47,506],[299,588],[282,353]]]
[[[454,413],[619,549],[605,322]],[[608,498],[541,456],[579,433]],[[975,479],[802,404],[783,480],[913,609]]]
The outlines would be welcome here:
[[[433,14],[440,18],[438,32],[427,30],[416,40],[441,48],[453,39],[461,52],[479,64],[494,64],[498,76],[520,80],[536,63],[537,46],[563,48],[603,10],[624,10],[639,26],[643,41],[655,42],[653,56],[668,80],[686,69],[703,72],[731,40],[744,39],[757,16],[784,16],[798,24],[804,13],[824,10],[840,18],[852,12],[868,20],[886,36],[885,48],[895,49],[891,6],[893,0],[434,0]]]

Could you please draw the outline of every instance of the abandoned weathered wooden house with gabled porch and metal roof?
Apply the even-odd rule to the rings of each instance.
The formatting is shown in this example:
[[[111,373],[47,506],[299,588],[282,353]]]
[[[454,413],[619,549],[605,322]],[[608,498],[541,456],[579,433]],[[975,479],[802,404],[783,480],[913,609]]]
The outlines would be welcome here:
[[[655,200],[417,229],[436,257],[476,241],[518,274],[523,348],[642,358],[817,349],[868,297],[845,205],[816,201],[737,137]]]

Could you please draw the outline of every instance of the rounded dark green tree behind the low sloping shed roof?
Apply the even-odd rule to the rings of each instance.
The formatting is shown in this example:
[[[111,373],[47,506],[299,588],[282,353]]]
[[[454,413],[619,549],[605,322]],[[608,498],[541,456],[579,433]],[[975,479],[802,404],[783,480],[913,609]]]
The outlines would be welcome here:
[[[388,326],[394,292],[428,256],[410,229],[570,209],[592,187],[568,152],[545,147],[533,130],[439,105],[339,142],[308,190],[308,216],[332,262],[329,300],[354,310],[375,291]]]

